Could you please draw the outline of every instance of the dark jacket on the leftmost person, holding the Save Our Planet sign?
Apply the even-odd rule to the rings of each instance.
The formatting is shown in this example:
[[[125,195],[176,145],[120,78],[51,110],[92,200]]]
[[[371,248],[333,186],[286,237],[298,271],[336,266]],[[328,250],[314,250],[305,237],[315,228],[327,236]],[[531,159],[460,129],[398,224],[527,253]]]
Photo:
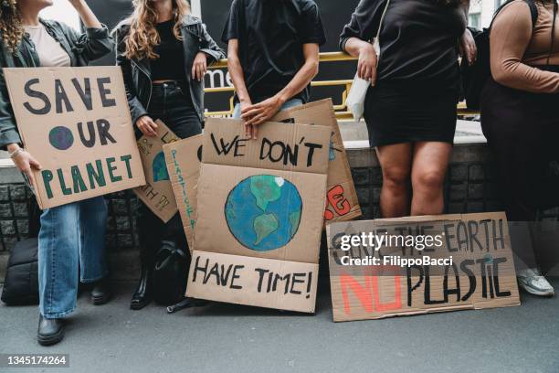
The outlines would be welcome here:
[[[87,66],[90,60],[100,59],[112,50],[112,38],[107,27],[88,28],[85,33],[79,33],[63,23],[41,19],[48,34],[54,37],[60,46],[69,54],[71,66]],[[35,45],[26,35],[16,53],[11,53],[0,42],[0,67],[2,68],[34,68],[39,67],[40,61]],[[0,149],[5,145],[21,144],[17,133],[16,119],[10,104],[4,73],[0,69]]]

